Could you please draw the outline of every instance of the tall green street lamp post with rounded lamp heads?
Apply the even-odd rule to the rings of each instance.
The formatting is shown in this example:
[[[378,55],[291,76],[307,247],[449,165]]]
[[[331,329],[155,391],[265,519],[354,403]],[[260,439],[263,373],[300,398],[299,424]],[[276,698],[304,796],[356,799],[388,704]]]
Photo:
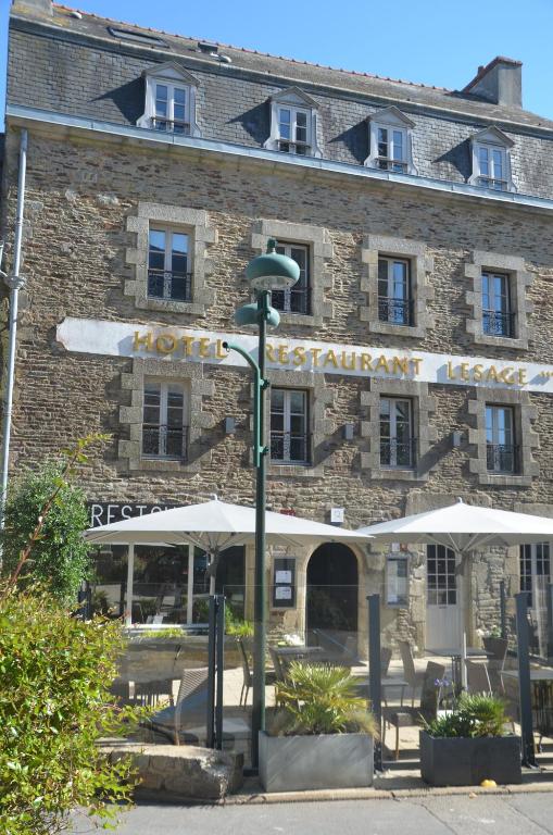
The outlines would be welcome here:
[[[253,388],[253,464],[255,486],[255,573],[254,573],[254,632],[252,687],[252,767],[259,764],[259,732],[265,730],[265,506],[268,447],[265,443],[265,353],[267,325],[277,327],[278,311],[271,307],[271,290],[292,287],[300,277],[300,267],[287,256],[276,252],[276,241],[268,240],[267,251],[250,261],[246,278],[255,290],[255,302],[244,304],[235,314],[236,324],[256,325],[259,328],[257,362],[241,346],[223,342],[228,351],[236,351],[250,365],[254,376]]]

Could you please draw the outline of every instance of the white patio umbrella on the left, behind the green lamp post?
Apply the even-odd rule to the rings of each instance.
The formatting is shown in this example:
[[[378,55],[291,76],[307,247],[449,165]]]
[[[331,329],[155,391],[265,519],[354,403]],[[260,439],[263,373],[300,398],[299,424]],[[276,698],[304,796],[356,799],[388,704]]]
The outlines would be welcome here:
[[[210,591],[215,590],[215,571],[221,551],[252,543],[255,537],[255,508],[228,504],[215,499],[200,504],[172,508],[126,519],[85,532],[91,545],[127,545],[127,620],[133,605],[134,546],[160,544],[192,545],[210,556]],[[369,537],[310,519],[266,511],[267,545],[317,546],[323,543],[367,543]]]

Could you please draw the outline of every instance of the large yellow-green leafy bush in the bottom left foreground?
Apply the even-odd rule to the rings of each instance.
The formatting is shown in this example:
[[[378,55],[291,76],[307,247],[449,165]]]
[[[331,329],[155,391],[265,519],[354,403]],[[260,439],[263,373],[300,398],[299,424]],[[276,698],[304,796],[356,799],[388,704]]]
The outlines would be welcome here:
[[[98,740],[128,732],[135,710],[109,694],[121,624],[70,616],[48,589],[0,597],[0,832],[53,835],[79,807],[113,819],[133,774]]]

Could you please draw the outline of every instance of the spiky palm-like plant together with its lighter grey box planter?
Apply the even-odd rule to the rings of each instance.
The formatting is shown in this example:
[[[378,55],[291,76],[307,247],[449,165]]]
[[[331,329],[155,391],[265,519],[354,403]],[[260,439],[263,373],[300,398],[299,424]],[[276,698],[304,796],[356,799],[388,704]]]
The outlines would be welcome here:
[[[349,670],[293,661],[276,685],[279,705],[260,733],[266,792],[353,788],[373,783],[376,722]]]

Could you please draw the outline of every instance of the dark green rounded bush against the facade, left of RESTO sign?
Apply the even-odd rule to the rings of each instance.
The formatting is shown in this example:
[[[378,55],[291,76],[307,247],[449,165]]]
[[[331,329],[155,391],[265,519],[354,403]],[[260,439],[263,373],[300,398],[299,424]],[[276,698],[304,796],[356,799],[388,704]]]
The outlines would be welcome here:
[[[62,602],[76,600],[80,582],[89,572],[89,546],[83,539],[88,527],[85,494],[63,479],[64,462],[49,461],[36,472],[24,471],[14,481],[5,502],[5,528],[1,536],[3,574],[13,574],[52,493],[55,501],[43,516],[22,577],[43,581]]]

